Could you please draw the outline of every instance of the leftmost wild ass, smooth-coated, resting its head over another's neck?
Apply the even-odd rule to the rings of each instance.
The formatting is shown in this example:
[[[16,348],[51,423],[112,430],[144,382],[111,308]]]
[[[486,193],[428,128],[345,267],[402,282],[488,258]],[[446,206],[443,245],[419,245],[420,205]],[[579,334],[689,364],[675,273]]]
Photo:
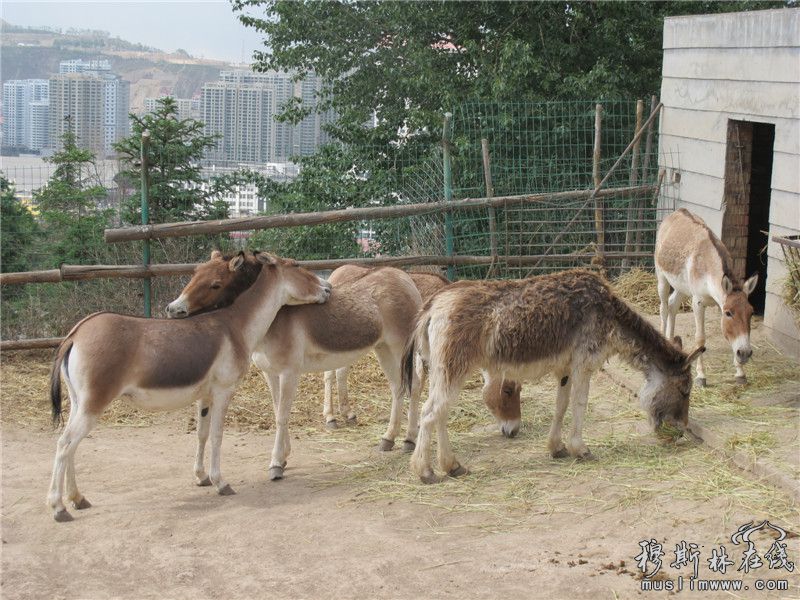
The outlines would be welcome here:
[[[61,417],[61,377],[71,401],[69,420],[58,440],[47,504],[56,521],[91,504],[78,491],[75,451],[97,418],[117,397],[150,410],[181,408],[199,399],[195,475],[198,485],[214,484],[222,495],[233,490],[220,474],[222,426],[228,402],[247,371],[247,357],[284,304],[323,303],[330,285],[313,273],[268,254],[257,257],[259,276],[230,307],[185,321],[95,313],[69,332],[56,352],[50,378],[53,420]],[[236,271],[242,254],[225,263]],[[209,415],[210,412],[210,415]],[[210,423],[209,423],[210,421]],[[211,468],[203,466],[211,432]]]

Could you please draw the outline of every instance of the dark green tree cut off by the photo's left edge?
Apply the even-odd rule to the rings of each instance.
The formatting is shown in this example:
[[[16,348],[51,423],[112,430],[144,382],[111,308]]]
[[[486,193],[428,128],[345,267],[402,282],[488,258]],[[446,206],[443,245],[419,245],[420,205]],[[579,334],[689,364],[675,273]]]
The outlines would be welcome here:
[[[31,212],[14,197],[11,183],[0,175],[0,242],[4,273],[35,267],[32,249],[40,229]]]

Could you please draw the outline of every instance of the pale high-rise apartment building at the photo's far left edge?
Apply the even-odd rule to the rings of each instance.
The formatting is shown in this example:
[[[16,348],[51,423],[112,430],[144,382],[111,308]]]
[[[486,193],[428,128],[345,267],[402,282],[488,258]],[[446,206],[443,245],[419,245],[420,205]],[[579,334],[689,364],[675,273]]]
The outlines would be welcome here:
[[[12,79],[3,84],[4,147],[38,151],[47,145],[47,123],[41,121],[41,110],[48,97],[46,79]]]

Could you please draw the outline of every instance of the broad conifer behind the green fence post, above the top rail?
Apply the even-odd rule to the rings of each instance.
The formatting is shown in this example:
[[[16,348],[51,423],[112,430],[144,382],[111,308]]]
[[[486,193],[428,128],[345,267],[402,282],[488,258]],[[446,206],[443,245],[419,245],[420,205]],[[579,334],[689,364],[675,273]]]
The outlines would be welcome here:
[[[222,194],[233,189],[236,175],[204,179],[200,161],[216,145],[219,136],[206,135],[196,119],[178,119],[173,98],[160,98],[154,112],[130,115],[132,133],[114,148],[122,157],[122,175],[135,191],[123,205],[122,220],[141,223],[142,133],[150,132],[147,152],[149,216],[151,223],[222,219],[228,207]]]

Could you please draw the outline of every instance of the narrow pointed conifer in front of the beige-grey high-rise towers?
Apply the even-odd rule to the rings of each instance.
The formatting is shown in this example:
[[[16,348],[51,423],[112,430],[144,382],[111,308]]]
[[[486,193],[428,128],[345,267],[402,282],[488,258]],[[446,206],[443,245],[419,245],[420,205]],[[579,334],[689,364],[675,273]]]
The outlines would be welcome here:
[[[97,262],[106,255],[103,230],[113,210],[102,208],[108,191],[100,182],[95,156],[78,147],[68,127],[61,150],[47,160],[56,165],[55,171],[34,194],[47,235],[47,260],[52,266]]]

